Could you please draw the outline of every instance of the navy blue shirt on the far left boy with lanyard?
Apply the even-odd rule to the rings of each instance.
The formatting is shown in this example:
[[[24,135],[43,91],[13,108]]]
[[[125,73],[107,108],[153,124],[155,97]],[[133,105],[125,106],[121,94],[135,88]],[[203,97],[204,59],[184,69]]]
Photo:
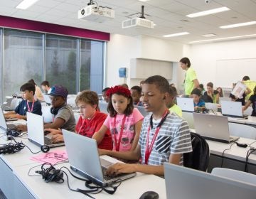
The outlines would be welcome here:
[[[18,104],[18,107],[15,108],[14,112],[20,115],[26,115],[26,112],[28,112],[28,106],[30,107],[30,109],[32,109],[32,104],[33,102],[28,102],[27,105],[27,100],[23,99],[21,103]],[[42,115],[41,102],[39,102],[38,100],[35,101],[33,104],[32,113]]]

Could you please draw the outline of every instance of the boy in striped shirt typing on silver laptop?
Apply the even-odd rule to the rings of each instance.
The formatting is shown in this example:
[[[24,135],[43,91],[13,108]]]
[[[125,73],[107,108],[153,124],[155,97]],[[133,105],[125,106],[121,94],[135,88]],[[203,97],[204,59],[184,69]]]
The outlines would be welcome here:
[[[138,163],[116,163],[108,173],[142,172],[164,176],[164,162],[183,165],[183,154],[192,151],[188,123],[169,112],[166,102],[169,98],[169,82],[159,75],[147,78],[142,85],[142,103],[146,112],[139,143],[134,151],[105,151],[106,154]]]

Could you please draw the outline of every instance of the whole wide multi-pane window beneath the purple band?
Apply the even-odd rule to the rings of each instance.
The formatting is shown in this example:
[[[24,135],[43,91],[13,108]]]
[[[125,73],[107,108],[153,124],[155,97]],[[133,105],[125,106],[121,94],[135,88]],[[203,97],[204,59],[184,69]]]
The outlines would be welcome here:
[[[63,85],[69,94],[102,91],[104,41],[7,28],[0,28],[0,39],[1,103],[31,79]]]

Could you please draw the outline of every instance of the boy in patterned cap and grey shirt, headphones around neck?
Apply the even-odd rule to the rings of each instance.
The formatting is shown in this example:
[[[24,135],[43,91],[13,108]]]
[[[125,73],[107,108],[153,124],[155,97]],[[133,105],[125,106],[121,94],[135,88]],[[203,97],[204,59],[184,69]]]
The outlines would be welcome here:
[[[50,108],[53,114],[53,122],[44,124],[44,128],[50,129],[66,129],[68,131],[75,131],[75,117],[73,110],[68,106],[67,97],[68,90],[60,85],[54,85],[50,91],[52,107]],[[25,125],[18,125],[18,130],[26,131]]]

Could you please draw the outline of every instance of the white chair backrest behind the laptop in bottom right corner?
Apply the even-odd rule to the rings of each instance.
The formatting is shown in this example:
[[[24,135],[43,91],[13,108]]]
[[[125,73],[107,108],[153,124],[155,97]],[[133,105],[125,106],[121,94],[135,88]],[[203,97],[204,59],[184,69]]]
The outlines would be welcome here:
[[[256,175],[252,173],[246,173],[244,171],[238,171],[231,168],[219,168],[219,167],[213,168],[211,173],[215,176],[231,178],[237,181],[252,183],[256,185]]]

